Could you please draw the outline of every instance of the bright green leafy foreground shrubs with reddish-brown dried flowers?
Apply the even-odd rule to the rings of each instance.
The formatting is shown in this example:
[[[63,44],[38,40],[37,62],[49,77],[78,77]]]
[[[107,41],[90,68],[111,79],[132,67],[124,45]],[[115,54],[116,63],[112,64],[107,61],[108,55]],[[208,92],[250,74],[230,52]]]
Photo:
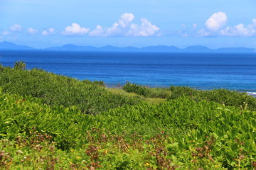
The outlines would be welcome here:
[[[46,106],[31,96],[0,94],[0,103],[2,169],[255,166],[256,113],[247,109],[190,97],[98,115],[82,114],[76,107]]]

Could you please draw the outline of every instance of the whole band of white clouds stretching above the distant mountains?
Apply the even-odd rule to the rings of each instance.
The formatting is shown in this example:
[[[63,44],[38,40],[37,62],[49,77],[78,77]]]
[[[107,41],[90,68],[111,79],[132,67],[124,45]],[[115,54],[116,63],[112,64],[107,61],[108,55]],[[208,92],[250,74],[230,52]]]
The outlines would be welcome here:
[[[133,13],[122,13],[117,22],[110,27],[97,25],[94,29],[85,28],[78,23],[66,26],[63,31],[48,28],[41,30],[41,35],[63,35],[63,36],[87,36],[87,37],[153,37],[153,36],[180,36],[180,37],[256,37],[256,18],[252,18],[250,24],[237,23],[235,26],[228,25],[228,15],[223,11],[218,11],[208,16],[204,23],[193,23],[187,26],[181,23],[180,30],[165,31],[159,26],[151,23],[146,18],[141,18],[139,23],[134,23]],[[12,35],[36,35],[38,29],[30,27],[23,29],[20,25],[14,24],[7,30],[1,30],[4,37]]]

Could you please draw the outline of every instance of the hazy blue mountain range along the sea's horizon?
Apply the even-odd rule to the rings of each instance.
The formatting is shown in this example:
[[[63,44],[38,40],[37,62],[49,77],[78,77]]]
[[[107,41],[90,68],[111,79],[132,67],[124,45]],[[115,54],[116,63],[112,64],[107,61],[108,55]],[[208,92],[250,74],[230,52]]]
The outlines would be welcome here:
[[[175,46],[149,46],[149,47],[114,47],[107,45],[104,47],[78,46],[78,45],[63,45],[61,47],[48,47],[45,49],[36,49],[26,45],[16,45],[11,42],[0,42],[0,50],[52,50],[52,51],[112,51],[112,52],[220,52],[220,53],[256,53],[256,49],[247,47],[227,47],[217,50],[210,49],[201,45],[194,45],[180,49]]]

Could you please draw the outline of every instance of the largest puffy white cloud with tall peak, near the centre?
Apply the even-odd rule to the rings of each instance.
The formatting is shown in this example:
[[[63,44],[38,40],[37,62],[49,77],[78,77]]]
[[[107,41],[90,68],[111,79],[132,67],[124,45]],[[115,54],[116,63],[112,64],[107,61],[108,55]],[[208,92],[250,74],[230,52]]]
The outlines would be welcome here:
[[[147,37],[154,36],[159,31],[159,27],[152,24],[146,18],[142,18],[140,25],[132,23],[134,15],[132,13],[123,13],[117,23],[110,28],[97,26],[92,30],[90,36],[113,37],[113,36],[129,36],[129,37]]]

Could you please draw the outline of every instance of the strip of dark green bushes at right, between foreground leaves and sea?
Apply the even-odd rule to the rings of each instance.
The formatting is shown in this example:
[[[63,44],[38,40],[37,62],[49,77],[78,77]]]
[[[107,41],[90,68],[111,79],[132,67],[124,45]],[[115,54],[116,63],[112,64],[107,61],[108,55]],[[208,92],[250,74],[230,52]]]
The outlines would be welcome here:
[[[215,101],[217,103],[225,104],[226,106],[240,107],[246,103],[248,108],[256,111],[256,98],[249,96],[246,93],[238,93],[237,91],[229,91],[226,89],[203,91],[186,86],[171,86],[169,88],[160,89],[127,83],[124,86],[124,90],[146,97],[167,98],[168,100],[181,96],[191,96],[191,99],[194,101]]]

